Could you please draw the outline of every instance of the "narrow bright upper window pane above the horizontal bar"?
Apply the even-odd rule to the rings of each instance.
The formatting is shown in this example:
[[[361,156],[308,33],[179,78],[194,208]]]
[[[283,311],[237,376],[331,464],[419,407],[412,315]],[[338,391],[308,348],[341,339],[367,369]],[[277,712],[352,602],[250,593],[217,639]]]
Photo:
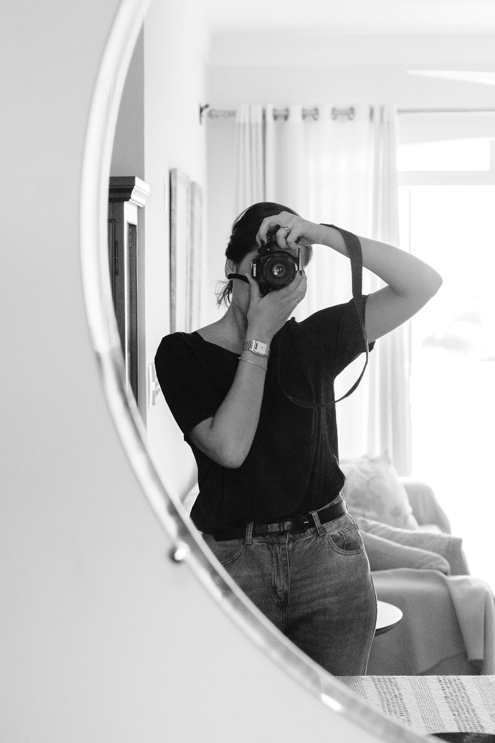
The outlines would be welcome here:
[[[476,138],[401,144],[397,148],[397,169],[490,170],[490,140]]]

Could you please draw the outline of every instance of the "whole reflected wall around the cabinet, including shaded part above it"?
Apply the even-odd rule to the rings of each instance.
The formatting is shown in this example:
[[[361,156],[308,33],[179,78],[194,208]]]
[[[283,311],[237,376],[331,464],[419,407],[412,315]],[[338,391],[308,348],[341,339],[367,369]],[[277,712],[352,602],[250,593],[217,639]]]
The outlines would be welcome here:
[[[137,175],[150,186],[140,214],[140,400],[146,397],[147,368],[170,332],[169,171],[179,168],[206,186],[205,128],[198,111],[205,99],[207,49],[197,0],[152,4],[119,109],[111,175]],[[157,462],[185,494],[196,478],[196,465],[163,395],[151,408],[140,402],[140,410]]]

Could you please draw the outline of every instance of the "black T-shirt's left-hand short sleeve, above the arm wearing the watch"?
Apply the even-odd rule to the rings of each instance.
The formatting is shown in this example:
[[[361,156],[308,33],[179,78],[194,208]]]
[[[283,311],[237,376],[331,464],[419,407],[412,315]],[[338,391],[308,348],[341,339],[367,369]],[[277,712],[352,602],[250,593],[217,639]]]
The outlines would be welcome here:
[[[186,334],[165,336],[154,363],[163,396],[185,435],[217,412],[225,395]]]

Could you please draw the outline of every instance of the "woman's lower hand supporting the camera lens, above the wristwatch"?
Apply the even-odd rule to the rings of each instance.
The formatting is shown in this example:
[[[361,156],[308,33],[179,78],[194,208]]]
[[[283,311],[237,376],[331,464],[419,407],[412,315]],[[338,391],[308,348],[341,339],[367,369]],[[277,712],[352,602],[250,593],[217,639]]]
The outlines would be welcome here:
[[[270,291],[266,296],[261,295],[258,282],[252,276],[248,273],[245,276],[251,289],[246,337],[271,343],[274,335],[304,299],[307,289],[306,273],[300,271],[289,285]]]

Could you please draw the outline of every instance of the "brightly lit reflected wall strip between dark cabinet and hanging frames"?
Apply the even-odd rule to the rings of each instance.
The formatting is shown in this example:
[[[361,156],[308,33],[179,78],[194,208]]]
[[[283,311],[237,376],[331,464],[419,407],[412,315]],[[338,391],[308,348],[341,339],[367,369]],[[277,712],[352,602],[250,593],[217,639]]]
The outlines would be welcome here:
[[[146,365],[170,332],[169,171],[206,186],[199,106],[205,98],[206,27],[197,0],[155,2],[145,21]],[[160,395],[147,412],[148,442],[180,493],[196,478],[191,450]]]

